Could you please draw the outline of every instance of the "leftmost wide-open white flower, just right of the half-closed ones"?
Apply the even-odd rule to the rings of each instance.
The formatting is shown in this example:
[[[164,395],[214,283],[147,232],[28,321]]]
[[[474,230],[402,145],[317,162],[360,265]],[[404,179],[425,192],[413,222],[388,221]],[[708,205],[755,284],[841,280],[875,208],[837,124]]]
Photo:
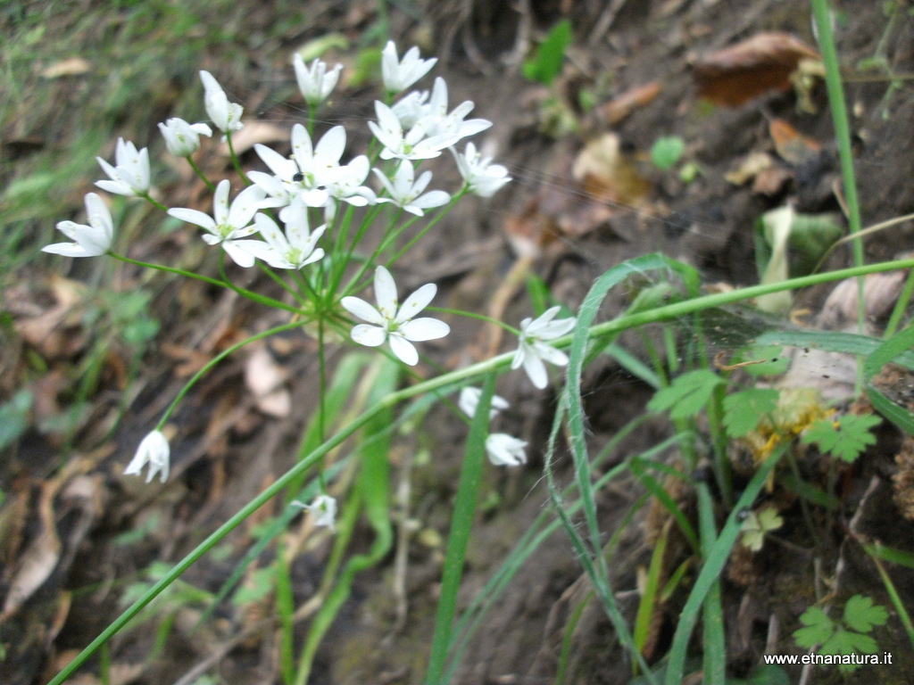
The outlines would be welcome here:
[[[239,267],[252,267],[254,255],[249,248],[259,244],[260,240],[240,240],[257,232],[257,227],[250,223],[260,208],[263,191],[257,185],[250,185],[242,190],[228,205],[228,179],[219,181],[216,193],[213,194],[213,216],[197,209],[169,209],[168,215],[195,224],[208,231],[203,236],[207,245],[219,245],[228,253],[228,257]],[[214,218],[215,217],[215,218]]]

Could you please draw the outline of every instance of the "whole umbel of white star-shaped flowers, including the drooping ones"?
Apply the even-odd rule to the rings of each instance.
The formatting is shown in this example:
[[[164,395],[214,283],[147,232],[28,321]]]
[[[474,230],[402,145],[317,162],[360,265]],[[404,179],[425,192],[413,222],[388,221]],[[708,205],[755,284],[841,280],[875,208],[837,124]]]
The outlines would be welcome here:
[[[237,266],[244,269],[257,266],[270,272],[292,294],[296,305],[240,290],[227,276],[222,281],[208,279],[210,282],[293,311],[301,318],[324,317],[322,321],[327,328],[336,332],[345,333],[351,326],[349,337],[353,342],[384,348],[403,364],[418,364],[420,351],[414,343],[442,338],[450,332],[450,327],[434,317],[419,316],[436,295],[437,287],[432,283],[399,302],[391,273],[396,258],[402,254],[402,250],[395,252],[397,239],[427,213],[433,215],[420,229],[420,236],[462,195],[489,197],[511,180],[507,169],[480,153],[473,142],[462,143],[492,125],[484,119],[467,118],[473,111],[473,102],[464,101],[451,107],[447,84],[441,78],[434,79],[430,90],[403,93],[428,74],[435,61],[420,58],[416,47],[410,48],[403,58],[399,58],[393,42],[384,48],[381,68],[385,101],[375,103],[377,121],[367,123],[374,139],[367,153],[346,158],[345,128],[334,126],[313,137],[312,118],[307,125],[296,123],[292,127],[292,153],[288,156],[266,145],[255,145],[266,170],[247,174],[240,173],[231,147],[232,132],[244,126],[243,109],[229,100],[212,74],[201,71],[209,123],[191,124],[172,118],[160,123],[159,128],[168,153],[185,157],[208,187],[214,189],[211,213],[196,208],[168,208],[155,201],[150,195],[153,183],[148,150],[138,150],[133,142],[117,142],[113,164],[99,159],[107,178],[96,185],[115,195],[143,198],[169,216],[198,227],[201,239],[219,248]],[[320,59],[305,65],[298,56],[293,58],[292,65],[298,87],[312,110],[330,97],[342,70],[340,65],[330,67]],[[193,163],[192,155],[200,146],[200,137],[213,134],[210,124],[228,142],[240,181],[223,179],[214,184]],[[418,168],[423,161],[439,157],[445,151],[452,155],[462,177],[462,185],[452,191],[434,188],[431,171]],[[62,221],[57,225],[71,242],[48,245],[45,251],[66,257],[109,254],[123,258],[114,249],[116,231],[108,203],[101,195],[90,193],[86,195],[85,205],[86,224]],[[354,215],[352,208],[362,208],[362,223],[356,222],[354,216],[358,215]],[[367,248],[363,243],[369,224],[383,227],[377,248]],[[412,237],[411,241],[415,239]],[[220,272],[224,274],[224,270]],[[183,273],[190,278],[206,279]],[[374,303],[355,294],[369,283],[373,284]],[[522,367],[538,388],[547,385],[544,362],[559,366],[568,363],[568,357],[551,342],[568,333],[574,319],[557,321],[557,313],[558,308],[553,308],[537,320],[528,319],[521,324],[513,367]],[[354,319],[347,319],[347,314]],[[471,395],[462,397],[464,410],[472,403]],[[497,411],[504,408],[505,402],[496,398],[493,406]],[[161,431],[166,418],[167,414],[143,438],[128,473],[141,475],[148,466],[147,480],[154,475],[167,478],[170,450]],[[498,433],[486,443],[489,458],[499,465],[523,463],[524,447],[523,441]],[[328,497],[322,493],[323,499],[315,501],[310,509],[317,512],[318,524],[332,526],[335,503],[328,501]]]

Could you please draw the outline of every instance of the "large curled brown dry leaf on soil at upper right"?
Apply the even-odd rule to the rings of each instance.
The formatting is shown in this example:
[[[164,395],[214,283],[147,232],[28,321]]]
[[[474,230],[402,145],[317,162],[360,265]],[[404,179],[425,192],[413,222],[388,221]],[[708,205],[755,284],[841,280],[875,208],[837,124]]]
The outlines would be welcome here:
[[[819,54],[786,33],[760,33],[700,58],[693,69],[698,95],[718,105],[739,107],[768,90],[790,90],[802,59]]]

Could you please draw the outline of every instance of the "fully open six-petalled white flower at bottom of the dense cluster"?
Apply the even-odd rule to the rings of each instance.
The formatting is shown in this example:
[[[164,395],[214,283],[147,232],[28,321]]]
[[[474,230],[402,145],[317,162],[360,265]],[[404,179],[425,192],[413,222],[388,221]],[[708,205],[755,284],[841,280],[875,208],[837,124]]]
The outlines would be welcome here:
[[[419,353],[411,342],[443,338],[451,327],[444,321],[422,318],[413,319],[425,309],[438,287],[427,283],[412,293],[403,305],[397,305],[397,284],[388,269],[375,269],[375,299],[377,309],[360,298],[345,297],[341,304],[346,311],[373,325],[360,323],[352,330],[352,339],[360,345],[377,347],[390,340],[390,349],[404,364],[414,366],[419,362]]]

